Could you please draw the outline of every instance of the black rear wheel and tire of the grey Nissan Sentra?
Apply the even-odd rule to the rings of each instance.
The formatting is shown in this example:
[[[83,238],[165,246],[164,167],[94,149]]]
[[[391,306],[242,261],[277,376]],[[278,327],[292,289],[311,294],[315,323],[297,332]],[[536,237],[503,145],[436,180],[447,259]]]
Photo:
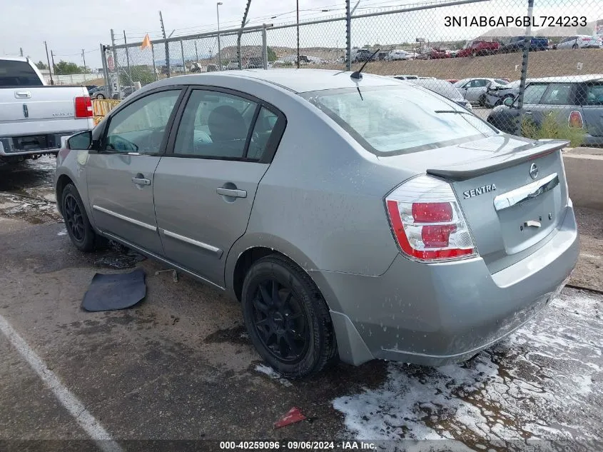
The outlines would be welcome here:
[[[271,254],[253,263],[241,305],[253,345],[280,375],[307,378],[335,358],[327,303],[310,276],[287,258]]]

